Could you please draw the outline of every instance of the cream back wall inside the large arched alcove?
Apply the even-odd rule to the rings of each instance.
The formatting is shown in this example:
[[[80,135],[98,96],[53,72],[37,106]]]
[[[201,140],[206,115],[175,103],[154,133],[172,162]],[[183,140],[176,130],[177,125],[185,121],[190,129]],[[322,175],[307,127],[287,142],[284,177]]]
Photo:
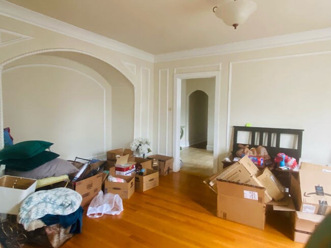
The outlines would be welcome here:
[[[4,126],[14,143],[46,140],[69,160],[111,148],[112,88],[89,67],[33,55],[8,65],[2,84]]]

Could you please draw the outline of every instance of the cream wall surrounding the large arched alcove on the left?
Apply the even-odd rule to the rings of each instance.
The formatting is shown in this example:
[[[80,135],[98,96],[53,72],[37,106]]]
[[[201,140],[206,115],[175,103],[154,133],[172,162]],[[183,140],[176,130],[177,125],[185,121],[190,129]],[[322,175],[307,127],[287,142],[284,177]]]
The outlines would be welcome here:
[[[18,36],[22,35],[31,37],[29,39],[22,39],[6,44],[0,43],[0,71],[2,69],[1,66],[6,69],[6,66],[9,65],[11,61],[21,59],[26,55],[52,51],[82,53],[90,56],[91,58],[96,58],[103,61],[103,63],[109,65],[109,68],[114,67],[133,85],[133,89],[131,89],[131,91],[127,88],[125,89],[125,87],[127,87],[125,86],[119,90],[126,90],[126,93],[121,92],[116,95],[116,97],[120,100],[124,100],[128,96],[131,100],[133,99],[134,116],[133,121],[130,120],[130,125],[133,128],[130,128],[127,132],[127,136],[124,137],[125,141],[123,141],[120,137],[113,135],[113,137],[117,139],[117,141],[114,142],[117,144],[116,147],[113,147],[111,138],[107,137],[106,149],[109,149],[108,147],[118,148],[118,145],[127,145],[129,143],[128,140],[132,140],[134,137],[140,136],[149,138],[153,142],[153,63],[148,60],[138,58],[136,55],[122,53],[121,49],[109,49],[104,45],[99,45],[97,42],[91,43],[88,41],[83,41],[83,37],[81,40],[75,39],[73,37],[52,32],[50,30],[2,15],[0,15],[0,32],[14,32]],[[99,100],[96,101],[98,102]],[[125,107],[127,106],[124,106],[124,108]],[[132,119],[132,116],[130,116],[130,118]],[[126,122],[128,123],[128,121]],[[121,128],[122,130],[125,129],[123,126]],[[108,130],[107,128],[106,133],[111,134],[111,130]],[[98,142],[100,142],[100,140]],[[86,151],[88,150],[87,147],[84,149]],[[95,152],[91,151],[90,153],[94,154]]]

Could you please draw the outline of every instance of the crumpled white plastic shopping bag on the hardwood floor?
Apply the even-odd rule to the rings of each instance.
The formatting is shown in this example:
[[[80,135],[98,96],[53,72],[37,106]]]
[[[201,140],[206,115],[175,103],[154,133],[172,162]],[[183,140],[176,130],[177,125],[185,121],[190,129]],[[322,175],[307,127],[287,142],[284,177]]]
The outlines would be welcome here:
[[[100,190],[98,195],[95,196],[88,207],[86,215],[90,218],[99,218],[104,213],[117,215],[123,211],[123,202],[119,195],[107,193],[103,195]]]

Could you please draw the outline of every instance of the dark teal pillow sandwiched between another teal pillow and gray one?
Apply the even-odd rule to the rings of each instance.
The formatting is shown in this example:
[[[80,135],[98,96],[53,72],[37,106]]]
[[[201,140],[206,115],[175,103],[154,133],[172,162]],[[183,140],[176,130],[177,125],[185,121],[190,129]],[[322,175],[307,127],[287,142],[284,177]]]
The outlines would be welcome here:
[[[30,171],[53,159],[58,158],[59,156],[59,154],[51,151],[42,151],[41,153],[29,159],[7,159],[1,161],[1,164],[6,165],[6,169],[10,170]]]

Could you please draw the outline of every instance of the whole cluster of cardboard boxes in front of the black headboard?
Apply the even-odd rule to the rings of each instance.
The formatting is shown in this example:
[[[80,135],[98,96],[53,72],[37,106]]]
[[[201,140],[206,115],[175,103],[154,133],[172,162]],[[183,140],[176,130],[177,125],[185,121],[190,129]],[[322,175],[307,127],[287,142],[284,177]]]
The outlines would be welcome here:
[[[267,206],[290,211],[294,241],[307,243],[331,213],[331,168],[301,163],[298,174],[288,194],[270,170],[260,171],[245,156],[204,182],[217,193],[217,217],[264,229]]]

